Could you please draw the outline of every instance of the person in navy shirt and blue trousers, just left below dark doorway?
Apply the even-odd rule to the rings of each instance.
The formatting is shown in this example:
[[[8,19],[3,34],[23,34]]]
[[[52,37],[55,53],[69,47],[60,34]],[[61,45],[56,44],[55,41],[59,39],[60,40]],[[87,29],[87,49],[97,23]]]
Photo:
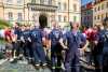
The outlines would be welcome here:
[[[43,48],[43,33],[42,29],[39,28],[39,26],[36,26],[35,29],[30,32],[31,43],[32,43],[32,51],[33,51],[33,57],[35,57],[35,66],[40,67],[46,66],[46,59],[45,59],[45,53]]]

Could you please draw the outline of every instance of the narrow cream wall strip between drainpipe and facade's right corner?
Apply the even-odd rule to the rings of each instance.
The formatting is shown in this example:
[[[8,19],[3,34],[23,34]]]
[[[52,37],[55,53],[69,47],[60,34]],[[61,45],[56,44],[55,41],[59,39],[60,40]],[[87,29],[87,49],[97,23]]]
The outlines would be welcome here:
[[[69,10],[70,10],[70,21],[81,23],[81,0],[70,0],[69,1]],[[75,20],[73,18],[77,17]]]

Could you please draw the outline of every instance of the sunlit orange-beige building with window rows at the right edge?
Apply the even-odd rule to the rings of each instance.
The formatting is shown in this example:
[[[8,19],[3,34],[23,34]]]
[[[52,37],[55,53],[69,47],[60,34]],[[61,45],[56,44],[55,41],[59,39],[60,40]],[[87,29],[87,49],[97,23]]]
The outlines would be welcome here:
[[[93,25],[102,25],[108,15],[108,0],[94,4],[93,8]]]

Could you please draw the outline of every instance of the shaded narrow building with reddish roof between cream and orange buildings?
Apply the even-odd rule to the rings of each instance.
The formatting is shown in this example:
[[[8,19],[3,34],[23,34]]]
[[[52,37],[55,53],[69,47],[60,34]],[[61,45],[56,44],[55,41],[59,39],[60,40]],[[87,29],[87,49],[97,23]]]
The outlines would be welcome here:
[[[81,6],[81,24],[86,27],[93,26],[93,3]]]

